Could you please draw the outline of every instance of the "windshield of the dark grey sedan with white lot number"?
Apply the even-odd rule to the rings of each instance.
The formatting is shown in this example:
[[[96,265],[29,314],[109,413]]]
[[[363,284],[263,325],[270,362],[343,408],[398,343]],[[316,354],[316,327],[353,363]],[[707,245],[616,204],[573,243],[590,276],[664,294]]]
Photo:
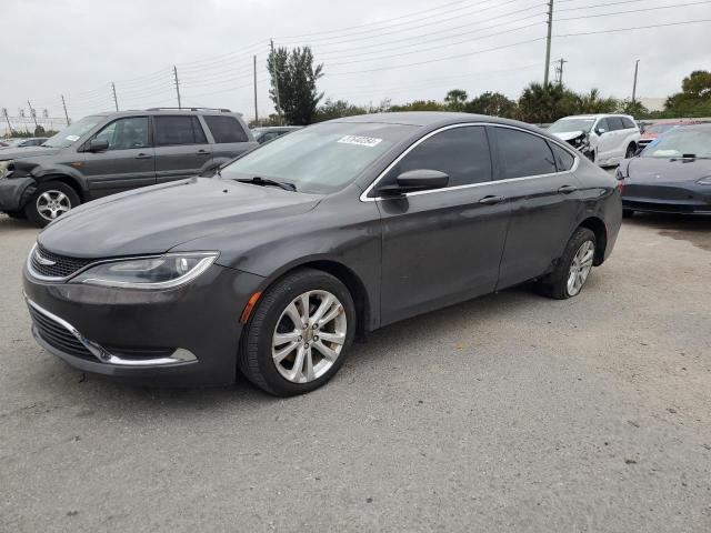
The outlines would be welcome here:
[[[221,170],[223,179],[262,178],[298,191],[337,191],[417,127],[330,122],[281,135]]]

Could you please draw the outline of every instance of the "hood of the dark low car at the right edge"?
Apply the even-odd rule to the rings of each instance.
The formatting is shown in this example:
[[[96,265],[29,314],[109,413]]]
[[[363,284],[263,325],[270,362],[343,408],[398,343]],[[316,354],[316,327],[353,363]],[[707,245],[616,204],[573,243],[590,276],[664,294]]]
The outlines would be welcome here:
[[[632,158],[625,175],[630,183],[698,181],[711,175],[711,159]]]

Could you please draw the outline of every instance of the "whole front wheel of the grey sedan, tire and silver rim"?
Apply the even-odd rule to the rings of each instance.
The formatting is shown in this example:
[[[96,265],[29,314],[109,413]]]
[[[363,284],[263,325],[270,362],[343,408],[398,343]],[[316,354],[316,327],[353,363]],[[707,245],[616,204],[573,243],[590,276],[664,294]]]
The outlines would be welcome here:
[[[303,394],[340,369],[356,332],[356,306],[336,276],[304,269],[259,300],[240,343],[239,369],[277,396]]]

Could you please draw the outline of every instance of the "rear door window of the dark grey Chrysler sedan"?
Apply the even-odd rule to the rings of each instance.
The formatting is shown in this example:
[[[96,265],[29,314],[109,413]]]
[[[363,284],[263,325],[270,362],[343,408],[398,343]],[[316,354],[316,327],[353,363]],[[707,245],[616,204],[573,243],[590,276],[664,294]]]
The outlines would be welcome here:
[[[503,168],[502,180],[557,172],[553,152],[541,137],[511,128],[493,128]]]

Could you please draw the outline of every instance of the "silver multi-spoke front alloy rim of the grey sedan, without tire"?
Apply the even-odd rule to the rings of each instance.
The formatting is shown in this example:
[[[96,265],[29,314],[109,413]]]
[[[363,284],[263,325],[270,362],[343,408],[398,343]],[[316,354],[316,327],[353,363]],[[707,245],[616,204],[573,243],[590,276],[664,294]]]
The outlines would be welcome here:
[[[292,383],[309,383],[326,374],[338,359],[348,331],[342,303],[328,291],[294,298],[277,321],[272,359]]]

